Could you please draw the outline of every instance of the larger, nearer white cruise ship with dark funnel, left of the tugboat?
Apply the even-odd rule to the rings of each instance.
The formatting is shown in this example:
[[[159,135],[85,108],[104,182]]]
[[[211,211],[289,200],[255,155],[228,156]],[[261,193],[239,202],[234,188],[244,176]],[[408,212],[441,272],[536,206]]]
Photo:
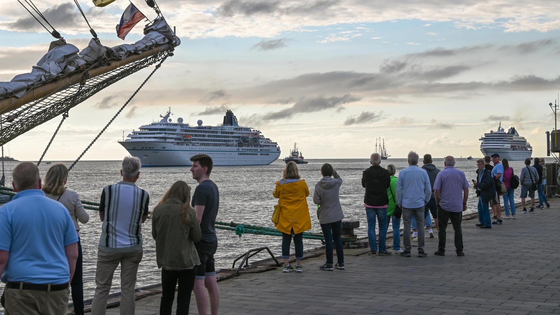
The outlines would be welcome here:
[[[208,154],[214,165],[267,165],[280,156],[278,143],[260,131],[237,124],[227,110],[220,126],[190,126],[170,118],[171,109],[160,122],[140,127],[119,143],[130,155],[142,160],[142,166],[190,166],[190,157]]]

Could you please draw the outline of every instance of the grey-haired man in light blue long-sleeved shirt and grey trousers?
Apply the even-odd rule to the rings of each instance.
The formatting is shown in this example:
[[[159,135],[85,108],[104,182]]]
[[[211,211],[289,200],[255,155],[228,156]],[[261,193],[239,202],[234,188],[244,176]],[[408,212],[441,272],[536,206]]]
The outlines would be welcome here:
[[[410,151],[408,154],[408,168],[399,173],[396,182],[396,202],[403,209],[404,224],[404,252],[410,257],[410,225],[412,216],[416,217],[417,226],[424,226],[424,206],[432,197],[430,177],[426,170],[418,167],[418,154]],[[418,229],[418,257],[428,256],[424,252],[424,229]]]

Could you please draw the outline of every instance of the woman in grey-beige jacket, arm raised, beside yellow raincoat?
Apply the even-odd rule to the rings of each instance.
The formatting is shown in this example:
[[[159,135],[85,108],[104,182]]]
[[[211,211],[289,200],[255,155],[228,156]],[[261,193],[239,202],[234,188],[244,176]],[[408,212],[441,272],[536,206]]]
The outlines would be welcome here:
[[[326,263],[320,266],[321,270],[333,270],[333,243],[337,249],[337,263],[335,268],[344,269],[344,252],[342,249],[342,240],[340,239],[340,229],[342,229],[342,206],[338,193],[342,185],[342,179],[328,163],[321,167],[323,178],[319,183],[315,184],[313,192],[313,202],[317,207],[317,217],[321,224],[321,230],[325,237],[325,255]]]

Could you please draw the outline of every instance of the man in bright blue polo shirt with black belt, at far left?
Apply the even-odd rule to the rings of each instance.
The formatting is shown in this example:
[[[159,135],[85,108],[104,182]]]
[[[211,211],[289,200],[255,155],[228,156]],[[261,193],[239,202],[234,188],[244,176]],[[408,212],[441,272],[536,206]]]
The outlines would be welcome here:
[[[78,235],[66,207],[45,197],[39,169],[25,162],[12,173],[17,192],[0,207],[0,274],[10,315],[66,315]]]

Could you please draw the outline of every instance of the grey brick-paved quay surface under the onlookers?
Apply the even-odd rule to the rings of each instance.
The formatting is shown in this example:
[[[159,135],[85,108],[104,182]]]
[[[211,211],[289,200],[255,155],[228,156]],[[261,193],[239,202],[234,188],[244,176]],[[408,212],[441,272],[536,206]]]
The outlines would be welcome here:
[[[560,201],[550,203],[536,214],[518,210],[518,219],[493,229],[463,221],[464,257],[455,255],[450,224],[445,257],[433,255],[436,234],[426,238],[426,258],[414,247],[409,258],[351,256],[364,252],[353,249],[346,270],[319,270],[322,255],[304,260],[301,274],[278,268],[221,281],[220,314],[560,313]],[[136,314],[158,314],[160,296],[137,300]],[[197,314],[194,295],[190,313]]]

